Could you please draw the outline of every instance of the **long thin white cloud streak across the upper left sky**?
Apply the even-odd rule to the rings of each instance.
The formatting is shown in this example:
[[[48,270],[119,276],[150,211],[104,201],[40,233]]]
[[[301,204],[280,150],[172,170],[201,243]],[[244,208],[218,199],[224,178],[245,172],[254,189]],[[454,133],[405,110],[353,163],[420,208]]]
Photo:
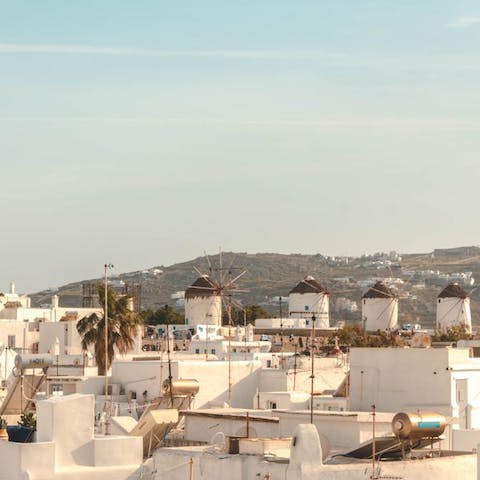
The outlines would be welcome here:
[[[316,50],[155,50],[145,48],[99,47],[92,45],[25,45],[0,43],[0,54],[109,55],[134,57],[217,57],[217,58],[339,58]]]

